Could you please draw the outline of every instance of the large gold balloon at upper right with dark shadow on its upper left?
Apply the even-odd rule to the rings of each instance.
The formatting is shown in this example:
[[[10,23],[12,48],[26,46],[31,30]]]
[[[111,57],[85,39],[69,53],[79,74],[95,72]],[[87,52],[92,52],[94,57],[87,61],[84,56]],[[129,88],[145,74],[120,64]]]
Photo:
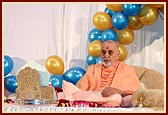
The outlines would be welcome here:
[[[138,16],[144,25],[154,24],[158,19],[158,9],[149,7],[149,5],[144,5]]]

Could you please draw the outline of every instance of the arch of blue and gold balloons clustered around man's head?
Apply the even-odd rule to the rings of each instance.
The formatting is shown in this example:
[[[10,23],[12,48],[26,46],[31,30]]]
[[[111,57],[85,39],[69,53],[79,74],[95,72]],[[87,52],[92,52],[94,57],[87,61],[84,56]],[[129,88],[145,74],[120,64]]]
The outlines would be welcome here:
[[[88,65],[97,63],[101,45],[107,40],[119,42],[119,60],[124,61],[128,54],[124,45],[134,41],[134,30],[154,24],[160,12],[164,14],[164,4],[106,4],[104,11],[93,16],[95,28],[88,34]]]

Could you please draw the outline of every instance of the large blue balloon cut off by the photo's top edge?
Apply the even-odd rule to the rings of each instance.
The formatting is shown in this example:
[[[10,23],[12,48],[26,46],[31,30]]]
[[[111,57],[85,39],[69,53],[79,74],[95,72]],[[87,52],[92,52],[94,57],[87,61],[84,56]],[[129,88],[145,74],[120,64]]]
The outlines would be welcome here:
[[[140,4],[123,4],[122,5],[123,12],[127,16],[136,16],[141,10]]]

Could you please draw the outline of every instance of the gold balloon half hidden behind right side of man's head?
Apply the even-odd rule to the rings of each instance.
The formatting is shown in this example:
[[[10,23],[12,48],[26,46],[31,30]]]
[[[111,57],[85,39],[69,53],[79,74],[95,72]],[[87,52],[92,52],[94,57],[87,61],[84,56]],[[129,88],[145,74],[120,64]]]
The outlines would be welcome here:
[[[119,61],[124,61],[127,58],[127,49],[125,48],[124,45],[119,44],[119,51],[120,51],[120,57],[119,57]]]

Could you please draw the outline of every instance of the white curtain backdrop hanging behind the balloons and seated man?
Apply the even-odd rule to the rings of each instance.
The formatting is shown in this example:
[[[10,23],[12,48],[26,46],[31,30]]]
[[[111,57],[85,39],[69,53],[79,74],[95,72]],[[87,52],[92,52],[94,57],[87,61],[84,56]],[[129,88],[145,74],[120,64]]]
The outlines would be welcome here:
[[[3,54],[13,58],[12,71],[32,60],[45,66],[50,55],[63,59],[64,71],[74,66],[86,69],[92,18],[105,8],[103,3],[3,4]],[[134,31],[125,62],[164,74],[164,25],[158,17],[155,24]]]

